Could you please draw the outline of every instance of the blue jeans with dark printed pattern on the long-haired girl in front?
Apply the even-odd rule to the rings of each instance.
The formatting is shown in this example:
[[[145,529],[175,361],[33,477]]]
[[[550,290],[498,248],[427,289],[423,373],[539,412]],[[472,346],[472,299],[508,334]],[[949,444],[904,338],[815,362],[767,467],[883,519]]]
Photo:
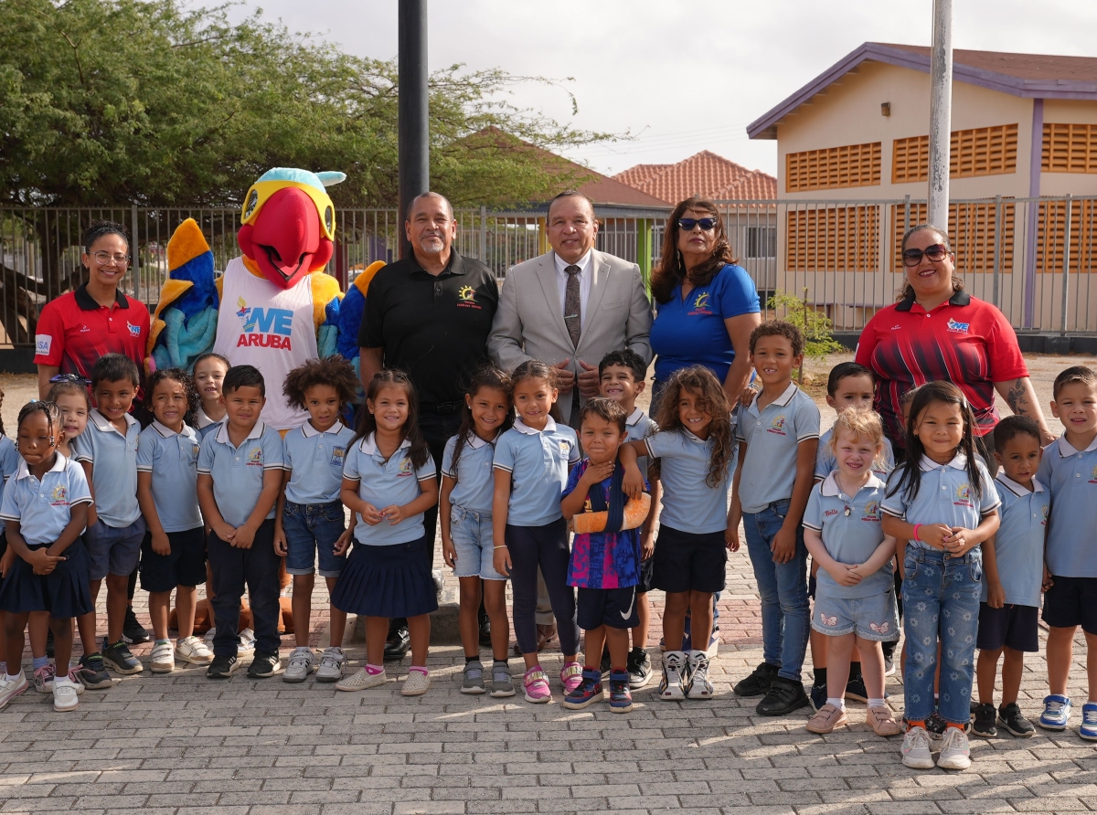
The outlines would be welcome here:
[[[907,545],[903,571],[906,717],[924,721],[934,712],[934,675],[940,638],[937,710],[946,722],[965,724],[971,718],[983,554],[974,548],[963,557],[952,557],[938,550]]]

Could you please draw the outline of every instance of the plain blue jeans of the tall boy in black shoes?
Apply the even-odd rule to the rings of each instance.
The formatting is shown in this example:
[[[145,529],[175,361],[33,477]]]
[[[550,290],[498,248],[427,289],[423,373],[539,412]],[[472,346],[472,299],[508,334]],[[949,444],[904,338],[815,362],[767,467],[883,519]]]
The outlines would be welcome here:
[[[788,499],[773,501],[761,512],[744,512],[747,553],[761,597],[762,656],[780,666],[778,676],[800,681],[807,650],[811,612],[807,605],[807,547],[804,529],[796,528],[796,552],[788,563],[773,563],[769,546],[789,513]]]

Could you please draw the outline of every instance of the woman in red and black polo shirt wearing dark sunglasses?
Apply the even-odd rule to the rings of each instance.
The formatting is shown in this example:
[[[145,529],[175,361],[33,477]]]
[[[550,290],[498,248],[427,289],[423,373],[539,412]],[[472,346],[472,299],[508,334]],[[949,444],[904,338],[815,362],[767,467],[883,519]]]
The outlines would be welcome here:
[[[993,462],[998,423],[994,392],[1015,414],[1048,429],[1017,335],[994,305],[972,297],[953,276],[955,254],[948,236],[919,224],[903,236],[906,285],[898,303],[877,312],[861,331],[857,361],[877,375],[875,408],[896,451],[906,448],[900,419],[903,394],[924,382],[945,380],[960,387],[975,414],[975,434]]]

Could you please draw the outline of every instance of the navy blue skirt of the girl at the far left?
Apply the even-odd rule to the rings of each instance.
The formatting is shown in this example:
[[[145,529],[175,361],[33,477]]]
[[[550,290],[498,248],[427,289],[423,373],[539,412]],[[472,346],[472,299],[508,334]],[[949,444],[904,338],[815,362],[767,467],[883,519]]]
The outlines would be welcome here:
[[[14,614],[48,611],[56,620],[70,620],[92,611],[88,588],[91,558],[80,539],[65,550],[65,558],[50,574],[35,575],[26,561],[16,557],[0,584],[0,611]]]

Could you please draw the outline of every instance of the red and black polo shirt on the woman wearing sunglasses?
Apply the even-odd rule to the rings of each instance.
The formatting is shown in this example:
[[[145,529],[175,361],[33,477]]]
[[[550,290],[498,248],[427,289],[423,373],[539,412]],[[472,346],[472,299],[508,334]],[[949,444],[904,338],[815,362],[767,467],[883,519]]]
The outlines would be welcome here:
[[[877,411],[898,441],[902,398],[912,387],[941,380],[957,385],[975,414],[975,435],[985,435],[998,423],[994,383],[1028,376],[1005,315],[964,291],[929,312],[914,297],[880,309],[861,331],[857,362],[875,373]]]

